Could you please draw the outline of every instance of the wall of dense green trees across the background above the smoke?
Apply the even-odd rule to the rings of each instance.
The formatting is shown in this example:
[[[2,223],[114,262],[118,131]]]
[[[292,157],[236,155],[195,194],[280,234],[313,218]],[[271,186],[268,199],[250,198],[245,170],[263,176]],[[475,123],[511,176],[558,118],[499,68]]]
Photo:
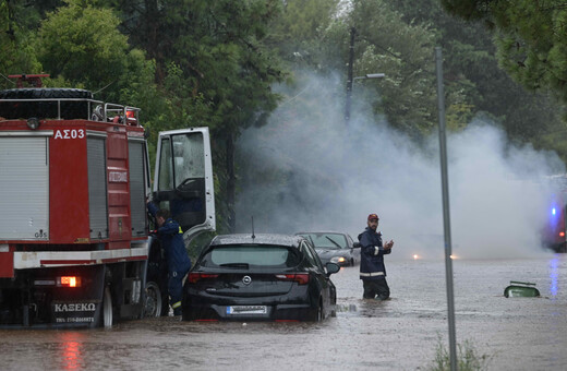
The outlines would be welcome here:
[[[354,76],[386,73],[364,83],[375,94],[355,88],[358,100],[417,145],[436,127],[433,50],[442,46],[450,130],[490,118],[567,158],[566,14],[558,0],[3,0],[0,88],[13,87],[8,74],[49,73],[48,86],[141,107],[150,143],[159,130],[209,127],[226,231],[239,173],[250,172],[234,157],[239,135],[282,101],[275,86],[295,96],[307,75],[338,75],[342,98],[352,32]],[[310,99],[300,96],[290,115],[316,117],[323,108]]]

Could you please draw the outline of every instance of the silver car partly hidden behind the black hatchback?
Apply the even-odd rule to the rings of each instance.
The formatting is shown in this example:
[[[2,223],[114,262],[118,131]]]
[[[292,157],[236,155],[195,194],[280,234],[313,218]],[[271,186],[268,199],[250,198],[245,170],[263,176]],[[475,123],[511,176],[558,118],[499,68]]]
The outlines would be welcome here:
[[[336,263],[340,266],[354,266],[360,263],[360,244],[348,234],[342,232],[299,232],[307,239],[323,263]]]

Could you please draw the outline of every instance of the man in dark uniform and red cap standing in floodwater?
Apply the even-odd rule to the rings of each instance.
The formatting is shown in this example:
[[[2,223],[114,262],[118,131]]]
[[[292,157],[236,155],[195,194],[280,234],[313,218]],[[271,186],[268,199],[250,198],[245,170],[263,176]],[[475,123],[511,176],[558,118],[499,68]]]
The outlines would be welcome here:
[[[360,279],[364,287],[364,299],[386,300],[389,298],[389,287],[386,282],[384,254],[391,252],[394,241],[383,244],[378,228],[378,216],[370,214],[366,229],[359,235],[360,241]]]

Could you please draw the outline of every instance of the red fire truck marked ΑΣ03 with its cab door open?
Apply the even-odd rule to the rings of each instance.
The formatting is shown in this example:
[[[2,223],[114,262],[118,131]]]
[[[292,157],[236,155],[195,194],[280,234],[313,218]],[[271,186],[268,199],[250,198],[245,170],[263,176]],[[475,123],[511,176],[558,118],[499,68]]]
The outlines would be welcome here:
[[[170,210],[185,243],[215,230],[208,129],[160,132],[152,184],[138,108],[43,76],[0,91],[0,326],[158,316],[167,272],[146,203]]]

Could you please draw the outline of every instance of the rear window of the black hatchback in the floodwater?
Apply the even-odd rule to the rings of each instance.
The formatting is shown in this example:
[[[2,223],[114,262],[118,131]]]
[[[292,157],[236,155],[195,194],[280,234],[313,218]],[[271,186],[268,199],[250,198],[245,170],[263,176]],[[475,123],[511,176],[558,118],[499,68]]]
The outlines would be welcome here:
[[[226,244],[214,247],[202,260],[208,267],[292,267],[300,263],[295,249],[274,244]]]

